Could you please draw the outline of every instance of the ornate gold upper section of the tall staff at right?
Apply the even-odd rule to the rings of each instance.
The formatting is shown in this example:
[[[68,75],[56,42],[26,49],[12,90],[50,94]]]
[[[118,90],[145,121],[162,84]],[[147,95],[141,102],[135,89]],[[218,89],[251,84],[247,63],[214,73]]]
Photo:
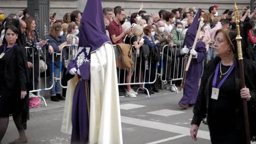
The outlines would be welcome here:
[[[238,54],[238,59],[243,59],[243,54],[242,54],[242,45],[241,45],[241,40],[242,37],[240,36],[240,26],[239,26],[239,14],[238,14],[238,8],[235,0],[235,22],[236,22],[236,41],[237,41],[237,54]]]

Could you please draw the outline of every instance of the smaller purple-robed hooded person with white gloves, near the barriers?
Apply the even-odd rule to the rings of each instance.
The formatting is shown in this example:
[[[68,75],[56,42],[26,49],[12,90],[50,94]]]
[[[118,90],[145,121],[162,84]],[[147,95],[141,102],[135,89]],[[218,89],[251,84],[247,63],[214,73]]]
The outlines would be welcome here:
[[[195,50],[192,49],[197,33],[197,23],[199,22],[198,20],[200,13],[201,9],[197,11],[192,25],[188,28],[184,39],[184,48],[181,49],[181,54],[186,55],[185,61],[187,61],[189,55],[193,55],[187,75],[185,77],[183,97],[179,101],[179,106],[183,107],[184,109],[188,109],[190,105],[196,103],[196,98],[199,91],[199,80],[202,75],[203,61],[206,57],[206,47],[205,43],[202,41],[197,41]]]

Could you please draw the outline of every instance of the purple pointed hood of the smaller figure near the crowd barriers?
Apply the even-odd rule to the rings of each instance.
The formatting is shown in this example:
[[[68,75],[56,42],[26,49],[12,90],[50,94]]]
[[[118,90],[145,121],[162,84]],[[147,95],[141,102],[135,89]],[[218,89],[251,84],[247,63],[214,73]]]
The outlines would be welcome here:
[[[197,25],[198,25],[198,20],[200,18],[201,14],[201,9],[198,9],[196,16],[194,17],[193,23],[191,26],[188,28],[188,31],[186,33],[186,37],[184,39],[183,47],[186,45],[187,47],[191,47],[194,44],[195,37],[196,37],[196,32],[197,32]]]

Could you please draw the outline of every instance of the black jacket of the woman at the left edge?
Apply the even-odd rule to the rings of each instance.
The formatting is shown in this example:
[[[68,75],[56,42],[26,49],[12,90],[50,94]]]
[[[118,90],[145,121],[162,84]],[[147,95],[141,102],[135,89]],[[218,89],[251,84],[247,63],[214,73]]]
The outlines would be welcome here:
[[[0,47],[0,52],[3,51],[3,45]],[[5,63],[4,76],[7,87],[10,89],[19,88],[21,91],[27,90],[28,73],[26,62],[26,50],[17,45],[13,49],[13,55],[7,58]]]

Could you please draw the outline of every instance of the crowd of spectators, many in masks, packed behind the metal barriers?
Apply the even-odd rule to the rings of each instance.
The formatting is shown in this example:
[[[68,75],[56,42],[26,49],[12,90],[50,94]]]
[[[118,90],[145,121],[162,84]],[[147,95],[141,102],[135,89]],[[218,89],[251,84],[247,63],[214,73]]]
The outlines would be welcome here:
[[[218,8],[218,5],[212,5],[208,10],[201,10],[200,12],[200,18],[202,17],[204,19],[204,25],[201,28],[199,39],[206,44],[208,58],[213,58],[215,56],[212,43],[214,41],[216,31],[220,28],[236,29],[234,11],[226,9],[224,13],[220,14],[218,13]],[[163,46],[169,45],[169,50],[166,51],[170,51],[170,53],[172,53],[172,47],[176,45],[177,47],[183,46],[187,29],[193,22],[197,11],[198,10],[195,7],[192,7],[177,8],[171,11],[161,9],[159,11],[155,11],[153,14],[148,14],[146,10],[143,10],[143,4],[141,4],[138,11],[135,11],[135,13],[129,13],[128,15],[125,9],[120,6],[115,8],[103,8],[103,17],[106,26],[106,34],[114,45],[120,43],[132,44],[135,47],[135,51],[133,53],[142,50],[142,47],[145,45],[149,46],[150,50],[157,47],[158,51],[162,51]],[[256,10],[250,11],[245,8],[239,15],[241,21],[240,26],[242,29],[241,35],[248,39],[247,41],[242,41],[242,43],[249,47],[243,49],[243,52],[245,53],[246,58],[253,60],[256,59],[256,49],[254,49],[256,42],[256,38],[254,37],[256,22],[255,14]],[[63,45],[71,43],[78,44],[81,17],[82,12],[79,10],[63,14],[63,19],[57,19],[56,14],[50,14],[50,31],[49,35],[46,36],[48,41],[45,41],[39,38],[38,32],[35,30],[35,21],[26,9],[19,11],[17,14],[10,14],[7,17],[4,15],[4,10],[0,9],[0,45],[2,44],[4,37],[5,21],[8,19],[19,19],[21,34],[25,41],[24,46],[44,47],[48,51],[48,56],[46,56],[46,58],[49,60],[51,58],[51,53],[60,52]],[[63,50],[63,53],[67,53],[66,49]],[[45,61],[44,57],[40,57],[39,61],[38,59],[34,59],[35,61],[32,63],[32,57],[38,57],[38,55],[40,55],[40,51],[38,49],[34,49],[33,53],[32,51],[27,52],[27,64],[31,81],[33,79],[32,68],[35,70],[34,80],[32,85],[30,85],[30,89],[38,88],[38,75],[42,72],[41,70],[38,70],[38,67],[42,65],[42,61],[48,65],[50,77],[49,83],[53,83],[51,80],[51,77],[53,77],[51,72],[53,70],[50,66],[50,61]],[[171,57],[171,55],[167,55],[166,53],[163,55],[165,58],[170,57],[168,58],[168,61],[170,62],[168,62],[167,67],[164,69],[171,69],[176,65],[176,63],[172,61],[173,57]],[[179,55],[179,52],[177,52],[176,55]],[[63,57],[68,58],[66,54]],[[132,59],[135,59],[135,57],[136,55],[132,55]],[[59,76],[57,74],[59,73],[60,68],[59,62],[60,58],[59,56],[56,56],[54,62],[55,77]],[[127,74],[125,74],[125,82],[131,82],[131,79],[134,76],[133,71],[134,69],[129,71],[129,74],[126,71]],[[62,74],[63,73],[65,73],[65,70],[62,71]],[[124,73],[124,71],[122,73]],[[150,76],[150,79],[152,79],[152,77],[154,76]],[[166,79],[172,79],[172,77],[166,77]],[[65,82],[65,79],[62,79],[62,82]],[[60,94],[61,87],[59,82],[55,81],[54,83],[54,87],[51,89],[51,100],[64,100],[65,98]],[[159,92],[158,80],[156,80],[155,83],[154,85],[146,86],[149,89],[150,94]],[[171,91],[174,90],[175,89],[172,87]],[[137,94],[130,85],[127,85],[126,87],[119,87],[119,91],[123,91],[130,97],[136,97]],[[63,96],[65,96],[65,91],[63,91]]]

